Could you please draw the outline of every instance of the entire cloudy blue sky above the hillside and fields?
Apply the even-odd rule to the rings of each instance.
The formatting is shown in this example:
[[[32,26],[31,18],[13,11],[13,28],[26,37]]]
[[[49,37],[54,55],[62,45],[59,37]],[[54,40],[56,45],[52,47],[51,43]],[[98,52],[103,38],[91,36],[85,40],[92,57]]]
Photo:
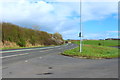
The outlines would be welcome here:
[[[59,32],[64,39],[117,38],[117,0],[1,0],[0,19],[48,33]],[[80,23],[80,18],[82,22]]]

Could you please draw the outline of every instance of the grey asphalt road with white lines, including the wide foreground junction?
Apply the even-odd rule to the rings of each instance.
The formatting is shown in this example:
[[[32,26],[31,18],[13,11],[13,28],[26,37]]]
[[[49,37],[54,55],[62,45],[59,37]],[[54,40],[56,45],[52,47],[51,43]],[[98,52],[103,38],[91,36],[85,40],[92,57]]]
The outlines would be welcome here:
[[[118,78],[118,59],[79,59],[63,56],[64,50],[77,47],[66,44],[55,47],[3,51],[3,78]]]

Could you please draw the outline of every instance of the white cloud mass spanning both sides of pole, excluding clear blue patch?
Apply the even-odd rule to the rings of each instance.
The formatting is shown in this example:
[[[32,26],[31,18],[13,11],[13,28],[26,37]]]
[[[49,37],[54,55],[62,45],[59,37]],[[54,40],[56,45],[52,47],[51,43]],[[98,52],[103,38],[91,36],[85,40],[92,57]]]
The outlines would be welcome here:
[[[41,27],[41,30],[52,33],[60,32],[66,39],[78,38],[80,4],[74,2],[63,3],[58,0],[55,2],[58,3],[47,3],[45,1],[30,2],[29,0],[2,0],[2,13],[0,15],[2,15],[2,20],[5,22],[28,27],[37,25]],[[102,20],[112,14],[117,14],[116,2],[82,3],[82,20],[84,22]]]

